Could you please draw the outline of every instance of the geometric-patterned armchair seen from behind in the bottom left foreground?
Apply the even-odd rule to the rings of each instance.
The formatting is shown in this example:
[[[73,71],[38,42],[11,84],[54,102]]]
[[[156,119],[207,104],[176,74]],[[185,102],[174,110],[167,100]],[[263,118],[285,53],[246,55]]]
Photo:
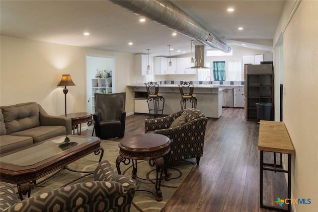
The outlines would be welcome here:
[[[78,183],[18,201],[13,187],[0,185],[3,212],[129,212],[135,195],[134,181],[118,175],[108,161],[102,161],[92,182]]]

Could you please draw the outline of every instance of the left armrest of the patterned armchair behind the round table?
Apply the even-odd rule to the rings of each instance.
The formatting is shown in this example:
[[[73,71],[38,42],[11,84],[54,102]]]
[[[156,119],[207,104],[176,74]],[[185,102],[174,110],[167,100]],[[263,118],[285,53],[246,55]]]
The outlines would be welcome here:
[[[145,133],[149,131],[154,130],[161,130],[161,129],[168,129],[172,122],[181,116],[183,110],[178,111],[174,114],[160,117],[160,118],[154,118],[154,119],[146,119],[145,120]]]

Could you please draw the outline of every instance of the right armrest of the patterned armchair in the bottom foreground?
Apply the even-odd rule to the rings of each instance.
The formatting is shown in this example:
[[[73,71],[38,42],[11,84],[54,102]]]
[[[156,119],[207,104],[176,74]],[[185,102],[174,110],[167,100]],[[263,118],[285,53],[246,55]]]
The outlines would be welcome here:
[[[135,192],[136,189],[134,181],[124,175],[117,174],[107,160],[101,161],[98,164],[94,173],[94,180],[118,182],[123,185],[125,191]]]

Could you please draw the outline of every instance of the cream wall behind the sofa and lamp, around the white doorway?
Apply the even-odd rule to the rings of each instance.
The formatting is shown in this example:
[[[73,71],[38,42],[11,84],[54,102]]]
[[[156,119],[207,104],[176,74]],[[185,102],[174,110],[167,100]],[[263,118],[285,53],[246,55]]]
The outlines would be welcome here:
[[[68,113],[86,111],[85,57],[114,57],[116,92],[126,91],[126,112],[134,111],[133,93],[127,88],[133,55],[1,36],[0,105],[38,102],[50,115],[64,114],[62,74],[71,74]],[[123,63],[123,61],[125,61]]]

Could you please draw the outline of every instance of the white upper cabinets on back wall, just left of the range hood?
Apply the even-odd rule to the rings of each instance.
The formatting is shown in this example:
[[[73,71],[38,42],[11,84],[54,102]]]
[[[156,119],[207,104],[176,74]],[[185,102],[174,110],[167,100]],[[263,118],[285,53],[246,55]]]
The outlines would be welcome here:
[[[191,64],[190,58],[171,58],[171,67],[169,67],[169,62],[170,58],[155,57],[155,74],[196,74],[196,69],[188,69],[194,66],[194,64]]]

